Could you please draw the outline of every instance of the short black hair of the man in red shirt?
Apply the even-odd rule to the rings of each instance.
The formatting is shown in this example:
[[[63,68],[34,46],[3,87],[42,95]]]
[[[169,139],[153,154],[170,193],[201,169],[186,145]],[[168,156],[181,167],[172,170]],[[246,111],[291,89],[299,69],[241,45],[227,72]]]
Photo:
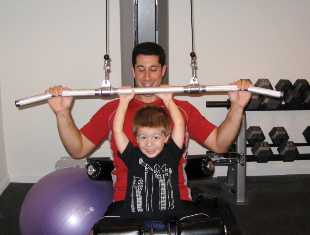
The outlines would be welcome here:
[[[157,55],[158,63],[162,67],[166,64],[166,54],[164,49],[155,42],[141,42],[132,51],[132,66],[135,68],[138,55]]]

